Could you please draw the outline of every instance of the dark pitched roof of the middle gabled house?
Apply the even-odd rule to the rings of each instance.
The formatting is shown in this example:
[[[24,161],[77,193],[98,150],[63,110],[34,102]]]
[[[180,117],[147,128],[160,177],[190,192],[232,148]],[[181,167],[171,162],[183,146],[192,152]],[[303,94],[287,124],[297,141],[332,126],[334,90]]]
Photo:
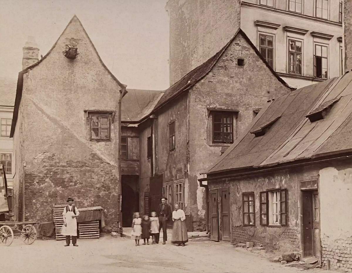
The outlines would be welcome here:
[[[222,56],[222,54],[225,52],[228,46],[232,43],[232,41],[237,37],[237,35],[242,35],[244,37],[246,42],[250,44],[250,46],[256,52],[258,57],[265,63],[266,67],[268,67],[268,69],[277,78],[279,82],[281,82],[284,86],[289,87],[292,90],[295,90],[295,88],[290,87],[283,79],[281,79],[281,77],[279,77],[276,74],[276,72],[270,67],[268,62],[266,62],[266,60],[260,54],[256,46],[251,42],[248,36],[244,33],[244,31],[239,29],[236,32],[236,34],[231,38],[231,40],[218,53],[216,53],[213,57],[209,58],[209,60],[207,60],[206,62],[204,62],[203,64],[201,64],[200,66],[196,67],[191,72],[183,76],[182,79],[174,83],[174,85],[166,89],[163,97],[158,101],[157,105],[155,106],[154,111],[156,111],[158,108],[168,103],[172,98],[175,98],[178,95],[180,95],[182,92],[187,91],[190,87],[194,86],[198,81],[200,81],[203,77],[205,77],[210,72],[210,70],[212,70],[214,65],[218,62],[219,58]]]

